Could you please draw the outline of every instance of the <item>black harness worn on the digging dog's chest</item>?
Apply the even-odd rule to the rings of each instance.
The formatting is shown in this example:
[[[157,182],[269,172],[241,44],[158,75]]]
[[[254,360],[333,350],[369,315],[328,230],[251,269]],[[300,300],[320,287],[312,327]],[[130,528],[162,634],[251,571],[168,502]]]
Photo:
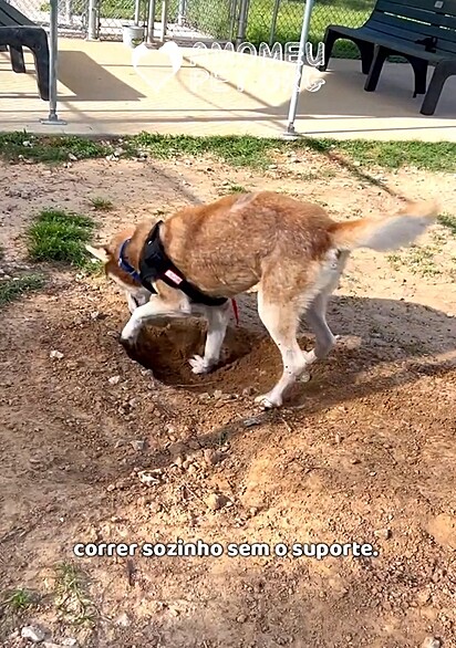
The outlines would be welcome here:
[[[221,306],[225,304],[228,301],[227,297],[210,297],[206,295],[193,283],[187,281],[180,270],[176,268],[166,254],[159,238],[159,227],[162,223],[162,220],[158,221],[147,236],[144,248],[141,251],[139,272],[136,272],[133,265],[125,259],[125,248],[129,243],[129,239],[124,241],[121,248],[118,257],[120,268],[152,293],[157,292],[153,284],[159,280],[170,288],[182,290],[196,304],[205,304],[206,306]]]

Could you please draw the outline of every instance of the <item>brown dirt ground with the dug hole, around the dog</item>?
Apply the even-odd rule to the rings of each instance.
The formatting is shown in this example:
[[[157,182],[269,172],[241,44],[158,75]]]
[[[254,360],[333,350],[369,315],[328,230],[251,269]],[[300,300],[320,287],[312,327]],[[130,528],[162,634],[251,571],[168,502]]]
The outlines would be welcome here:
[[[0,142],[4,648],[29,645],[30,625],[58,647],[456,648],[454,147],[245,142],[156,139],[136,154],[125,142]],[[197,322],[149,326],[134,362],[116,288],[77,254],[77,266],[30,257],[31,241],[43,259],[55,244],[46,252],[35,224],[50,210],[90,217],[104,241],[265,188],[339,220],[395,209],[396,195],[443,205],[416,247],[353,254],[329,311],[340,342],[280,411],[253,404],[280,372],[255,295],[239,300],[224,366],[196,377]],[[73,553],[178,540],[271,554]],[[273,553],[311,542],[379,555]]]

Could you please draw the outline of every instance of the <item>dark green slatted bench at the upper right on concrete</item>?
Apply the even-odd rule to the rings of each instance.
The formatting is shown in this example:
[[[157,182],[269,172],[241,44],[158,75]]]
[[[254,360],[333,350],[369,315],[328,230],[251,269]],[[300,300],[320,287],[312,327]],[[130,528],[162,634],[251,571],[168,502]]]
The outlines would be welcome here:
[[[421,113],[433,115],[446,80],[456,74],[456,0],[377,0],[357,29],[329,25],[324,35],[324,71],[336,40],[357,45],[364,90],[374,92],[388,56],[406,59],[415,73],[415,92],[424,94]],[[435,67],[427,86],[428,65]]]

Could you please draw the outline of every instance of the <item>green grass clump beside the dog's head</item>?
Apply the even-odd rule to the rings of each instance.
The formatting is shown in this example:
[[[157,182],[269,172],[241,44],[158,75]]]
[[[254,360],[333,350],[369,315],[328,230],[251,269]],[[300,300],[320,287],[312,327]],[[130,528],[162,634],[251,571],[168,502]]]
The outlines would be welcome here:
[[[33,261],[60,261],[85,268],[89,258],[84,244],[89,243],[94,228],[94,221],[87,216],[45,209],[29,228],[29,255]]]

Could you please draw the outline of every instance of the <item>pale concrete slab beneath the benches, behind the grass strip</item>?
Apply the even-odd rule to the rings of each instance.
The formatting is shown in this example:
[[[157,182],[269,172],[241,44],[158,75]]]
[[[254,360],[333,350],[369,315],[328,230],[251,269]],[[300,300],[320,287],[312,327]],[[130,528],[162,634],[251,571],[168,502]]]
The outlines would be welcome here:
[[[68,124],[40,124],[49,107],[38,98],[34,73],[14,74],[9,56],[0,53],[0,130],[280,137],[286,129],[292,63],[190,48],[176,53],[170,45],[168,53],[147,50],[134,66],[122,43],[61,39],[59,48],[58,112]],[[172,63],[182,55],[173,75]],[[305,90],[319,80],[320,90]],[[408,65],[387,64],[375,93],[363,91],[364,80],[357,61],[334,60],[324,74],[305,69],[297,130],[344,139],[456,142],[456,77],[432,117],[419,114],[422,97],[412,98]]]

